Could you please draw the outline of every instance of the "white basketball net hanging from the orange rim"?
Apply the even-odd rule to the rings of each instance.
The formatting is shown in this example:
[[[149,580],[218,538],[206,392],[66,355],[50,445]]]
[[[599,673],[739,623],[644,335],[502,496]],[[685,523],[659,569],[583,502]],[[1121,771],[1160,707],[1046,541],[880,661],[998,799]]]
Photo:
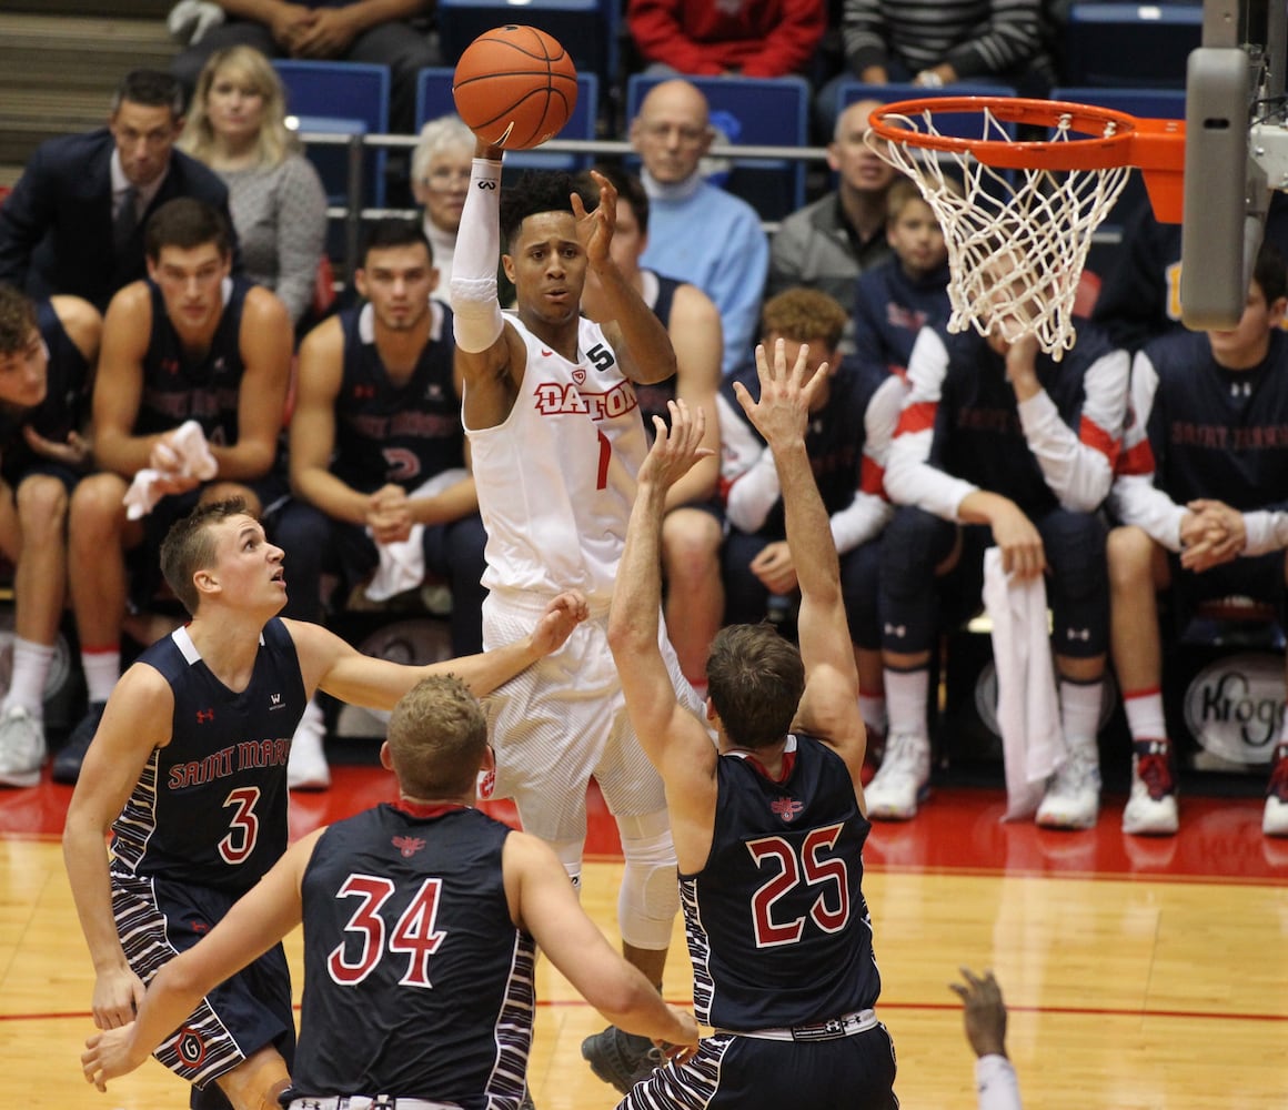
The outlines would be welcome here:
[[[988,108],[974,109],[979,138],[1014,142],[1006,124]],[[934,113],[886,116],[908,131],[939,135]],[[940,124],[947,126],[940,117]],[[953,112],[958,126],[962,113]],[[1079,138],[1061,116],[1051,142]],[[1105,121],[1104,134],[1115,124]],[[952,131],[960,135],[961,131]],[[908,174],[934,210],[948,246],[948,327],[974,326],[981,335],[997,327],[1009,340],[1037,337],[1059,359],[1073,346],[1073,305],[1092,234],[1127,183],[1130,166],[1108,170],[1002,170],[967,151],[933,151],[912,140],[886,140],[875,131],[868,146]]]

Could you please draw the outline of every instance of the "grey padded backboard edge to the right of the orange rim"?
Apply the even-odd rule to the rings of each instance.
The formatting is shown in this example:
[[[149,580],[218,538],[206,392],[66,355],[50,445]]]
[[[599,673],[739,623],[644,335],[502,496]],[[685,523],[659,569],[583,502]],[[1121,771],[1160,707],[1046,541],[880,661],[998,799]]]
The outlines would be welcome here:
[[[1186,64],[1181,318],[1234,327],[1243,314],[1270,191],[1288,189],[1284,58],[1275,0],[1203,0]]]

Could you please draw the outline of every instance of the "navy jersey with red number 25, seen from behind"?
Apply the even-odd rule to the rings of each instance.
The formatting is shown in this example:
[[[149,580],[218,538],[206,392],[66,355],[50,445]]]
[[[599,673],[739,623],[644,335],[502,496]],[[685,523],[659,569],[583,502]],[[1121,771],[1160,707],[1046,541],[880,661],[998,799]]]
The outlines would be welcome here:
[[[743,752],[717,770],[711,854],[680,877],[698,1020],[753,1031],[871,1008],[881,992],[863,898],[859,813],[844,760],[790,737],[770,780]]]

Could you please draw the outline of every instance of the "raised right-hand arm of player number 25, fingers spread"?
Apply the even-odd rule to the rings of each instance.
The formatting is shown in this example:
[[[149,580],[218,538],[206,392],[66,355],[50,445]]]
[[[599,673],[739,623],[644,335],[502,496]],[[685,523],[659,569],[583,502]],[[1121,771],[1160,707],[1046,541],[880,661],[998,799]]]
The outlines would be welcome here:
[[[841,572],[832,542],[832,524],[805,451],[810,399],[827,377],[827,364],[804,381],[808,354],[802,346],[796,364],[788,370],[782,340],[774,345],[772,359],[764,345],[759,345],[756,372],[760,399],[752,399],[742,382],[734,384],[734,391],[747,417],[774,453],[783,489],[787,545],[801,590],[797,636],[805,663],[805,694],[796,721],[845,760],[862,805],[859,774],[867,737],[858,711],[859,676],[854,668],[854,650],[841,599]]]

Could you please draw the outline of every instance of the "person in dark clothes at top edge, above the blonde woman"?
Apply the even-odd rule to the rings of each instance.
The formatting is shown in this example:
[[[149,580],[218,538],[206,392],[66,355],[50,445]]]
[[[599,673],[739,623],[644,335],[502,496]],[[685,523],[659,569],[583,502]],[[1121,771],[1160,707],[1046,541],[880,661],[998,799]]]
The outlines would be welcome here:
[[[189,93],[216,50],[254,46],[267,58],[340,59],[388,66],[389,126],[416,129],[416,73],[443,59],[421,24],[426,0],[214,0],[224,21],[170,63]]]

